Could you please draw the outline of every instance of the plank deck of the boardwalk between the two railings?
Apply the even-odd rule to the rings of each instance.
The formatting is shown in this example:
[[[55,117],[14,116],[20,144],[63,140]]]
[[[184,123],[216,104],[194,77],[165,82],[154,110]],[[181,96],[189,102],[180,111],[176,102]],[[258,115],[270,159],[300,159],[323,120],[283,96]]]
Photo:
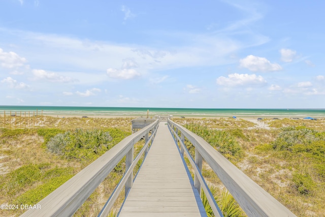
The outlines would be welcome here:
[[[207,216],[166,122],[129,191],[119,217]]]

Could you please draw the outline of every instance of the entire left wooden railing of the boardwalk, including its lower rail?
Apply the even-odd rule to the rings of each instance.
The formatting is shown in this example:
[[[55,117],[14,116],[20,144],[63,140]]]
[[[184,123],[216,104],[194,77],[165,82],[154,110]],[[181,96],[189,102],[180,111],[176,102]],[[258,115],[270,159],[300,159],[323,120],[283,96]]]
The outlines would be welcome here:
[[[107,216],[123,187],[125,186],[125,195],[132,187],[134,167],[143,153],[146,154],[148,152],[149,143],[150,141],[152,143],[154,139],[158,124],[159,120],[156,120],[151,125],[123,139],[100,158],[41,200],[38,203],[41,209],[30,209],[21,216],[72,216],[114,167],[126,156],[125,173],[99,214],[99,216]],[[143,137],[145,137],[145,145],[134,159],[134,144]]]

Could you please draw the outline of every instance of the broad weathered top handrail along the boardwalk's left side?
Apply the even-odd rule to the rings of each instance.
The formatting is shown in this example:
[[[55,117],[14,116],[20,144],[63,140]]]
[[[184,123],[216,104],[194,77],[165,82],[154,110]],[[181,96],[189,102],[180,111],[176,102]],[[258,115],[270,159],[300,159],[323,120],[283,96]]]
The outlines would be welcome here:
[[[130,160],[126,158],[125,164],[126,167],[128,164],[128,167],[125,170],[132,165],[134,160],[134,144],[143,137],[147,140],[149,131],[156,128],[158,123],[159,120],[156,120],[151,125],[124,138],[101,157],[38,202],[41,209],[29,209],[21,216],[72,216],[124,156],[129,155],[129,158],[132,159],[132,162],[127,162]]]

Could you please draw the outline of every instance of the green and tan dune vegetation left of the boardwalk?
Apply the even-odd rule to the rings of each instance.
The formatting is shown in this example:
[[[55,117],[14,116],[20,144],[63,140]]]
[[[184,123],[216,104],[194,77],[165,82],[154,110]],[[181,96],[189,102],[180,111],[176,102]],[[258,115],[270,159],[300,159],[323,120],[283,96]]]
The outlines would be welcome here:
[[[43,118],[35,127],[0,128],[0,204],[36,204],[131,134],[131,118]],[[55,143],[53,138],[64,134],[69,134],[64,138],[65,149],[57,148],[61,152],[55,152],[49,148],[51,141]],[[122,177],[124,170],[119,166],[125,163],[119,164],[75,216],[99,213]],[[123,199],[122,192],[115,208]],[[23,211],[0,210],[0,216],[18,216]]]

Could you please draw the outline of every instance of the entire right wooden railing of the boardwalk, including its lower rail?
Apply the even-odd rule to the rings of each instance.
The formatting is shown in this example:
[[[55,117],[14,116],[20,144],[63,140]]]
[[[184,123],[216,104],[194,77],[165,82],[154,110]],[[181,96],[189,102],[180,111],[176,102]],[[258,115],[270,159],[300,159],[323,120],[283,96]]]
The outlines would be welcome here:
[[[181,154],[184,152],[194,169],[194,187],[201,192],[203,189],[210,203],[213,213],[216,216],[223,216],[217,203],[215,202],[204,177],[202,176],[202,161],[212,168],[215,174],[222,181],[226,189],[233,195],[235,200],[248,216],[296,216],[269,193],[262,189],[258,184],[245,175],[240,169],[215,150],[200,136],[190,132],[177,123],[168,120],[168,126],[174,135],[175,142],[181,145]],[[178,135],[180,132],[180,136]],[[195,160],[184,144],[185,137],[196,148]]]

